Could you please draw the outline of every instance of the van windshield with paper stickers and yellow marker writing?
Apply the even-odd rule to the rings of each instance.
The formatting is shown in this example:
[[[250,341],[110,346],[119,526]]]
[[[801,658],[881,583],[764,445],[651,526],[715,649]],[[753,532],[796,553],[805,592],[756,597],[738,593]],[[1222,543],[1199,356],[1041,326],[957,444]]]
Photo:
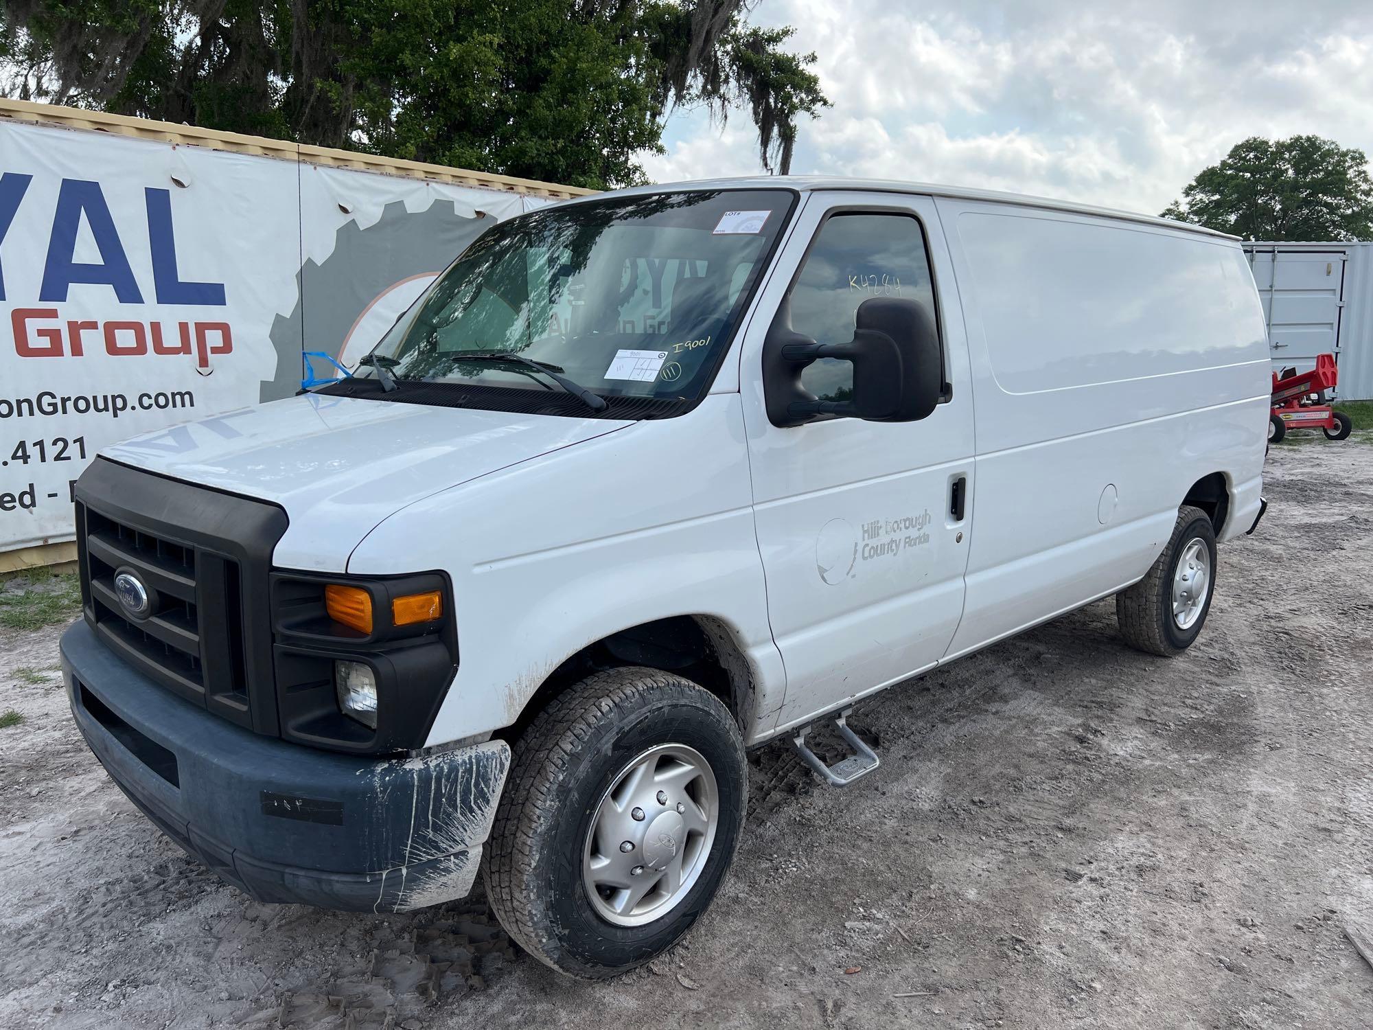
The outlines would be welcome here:
[[[615,398],[695,400],[729,347],[794,196],[647,194],[501,222],[378,345],[373,364],[400,387],[386,400],[432,393],[408,390],[415,382],[562,391],[529,361],[611,409]],[[503,354],[529,361],[493,360]],[[375,367],[360,374],[386,378]],[[498,396],[482,397],[483,407],[503,407]]]

